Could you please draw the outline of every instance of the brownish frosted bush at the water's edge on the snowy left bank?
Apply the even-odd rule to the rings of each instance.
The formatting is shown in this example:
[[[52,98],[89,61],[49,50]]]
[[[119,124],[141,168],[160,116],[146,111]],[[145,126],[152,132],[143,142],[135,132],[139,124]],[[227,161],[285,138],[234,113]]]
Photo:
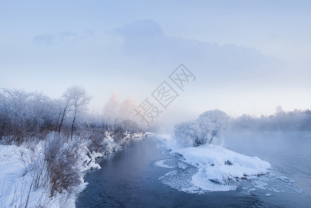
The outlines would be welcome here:
[[[71,192],[72,187],[81,183],[80,160],[82,154],[82,141],[79,137],[67,139],[62,135],[51,132],[46,137],[44,159],[47,175],[50,178],[51,196],[55,191]]]

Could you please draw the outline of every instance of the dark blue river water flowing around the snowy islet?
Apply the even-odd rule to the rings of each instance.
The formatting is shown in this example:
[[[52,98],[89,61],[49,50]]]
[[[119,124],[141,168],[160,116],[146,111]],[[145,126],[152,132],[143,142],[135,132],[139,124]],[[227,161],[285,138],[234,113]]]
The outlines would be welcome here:
[[[89,185],[76,207],[310,207],[311,138],[309,135],[231,133],[226,148],[258,156],[272,164],[272,176],[242,182],[236,191],[186,193],[161,183],[174,170],[159,161],[180,164],[154,138],[125,144],[123,150],[88,171]],[[188,165],[188,168],[191,166]],[[177,171],[183,171],[176,166]],[[187,168],[185,169],[187,171]],[[283,180],[285,178],[285,180]],[[278,180],[282,179],[282,180]],[[295,182],[294,182],[295,181]]]

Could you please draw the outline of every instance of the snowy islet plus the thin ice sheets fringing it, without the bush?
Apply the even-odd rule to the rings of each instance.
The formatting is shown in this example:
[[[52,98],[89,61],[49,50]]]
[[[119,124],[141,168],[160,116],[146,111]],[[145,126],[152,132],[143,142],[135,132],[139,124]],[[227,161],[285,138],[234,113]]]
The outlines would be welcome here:
[[[159,135],[157,140],[180,161],[177,166],[167,164],[167,160],[157,162],[157,166],[178,168],[159,178],[162,184],[173,189],[188,193],[230,191],[243,182],[242,189],[247,195],[259,190],[301,193],[294,188],[294,180],[275,175],[269,162],[259,157],[241,155],[211,144],[184,148],[170,135]]]

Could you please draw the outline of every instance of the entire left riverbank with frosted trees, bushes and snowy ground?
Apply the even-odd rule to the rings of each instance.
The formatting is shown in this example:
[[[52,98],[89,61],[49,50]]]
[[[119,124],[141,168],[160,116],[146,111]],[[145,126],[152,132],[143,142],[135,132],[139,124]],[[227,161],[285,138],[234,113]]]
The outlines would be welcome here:
[[[132,98],[119,105],[113,95],[103,119],[87,113],[90,100],[82,87],[55,100],[0,89],[0,207],[75,207],[85,171],[142,139]]]

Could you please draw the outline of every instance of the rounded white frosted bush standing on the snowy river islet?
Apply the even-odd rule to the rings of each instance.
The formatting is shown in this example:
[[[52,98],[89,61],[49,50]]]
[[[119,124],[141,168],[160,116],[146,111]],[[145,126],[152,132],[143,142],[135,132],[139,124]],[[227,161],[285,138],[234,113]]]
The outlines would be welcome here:
[[[223,145],[229,121],[225,112],[209,110],[195,121],[175,125],[174,137],[183,146],[200,146],[206,143]]]

